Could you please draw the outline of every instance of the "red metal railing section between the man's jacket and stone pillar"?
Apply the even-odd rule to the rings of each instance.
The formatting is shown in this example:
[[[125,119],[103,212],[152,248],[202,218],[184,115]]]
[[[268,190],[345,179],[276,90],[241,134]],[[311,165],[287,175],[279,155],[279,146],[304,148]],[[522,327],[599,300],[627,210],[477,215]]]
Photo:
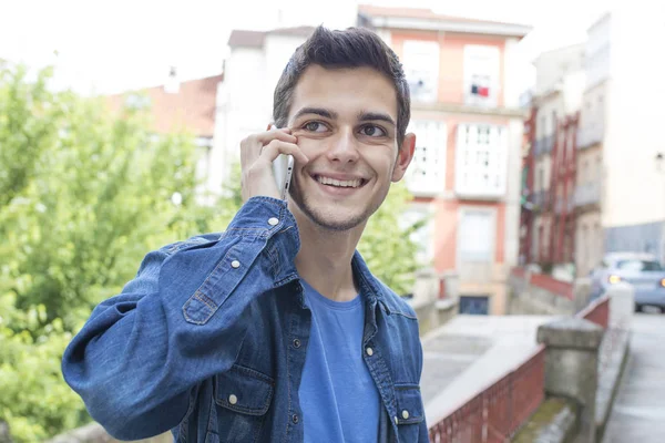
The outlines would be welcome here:
[[[545,347],[430,426],[432,443],[503,443],[544,400]]]

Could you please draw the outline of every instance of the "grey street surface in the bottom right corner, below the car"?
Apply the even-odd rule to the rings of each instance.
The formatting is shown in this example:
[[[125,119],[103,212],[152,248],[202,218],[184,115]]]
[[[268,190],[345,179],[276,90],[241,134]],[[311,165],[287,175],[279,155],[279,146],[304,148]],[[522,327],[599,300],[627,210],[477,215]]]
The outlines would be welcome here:
[[[665,441],[665,315],[637,313],[604,443]]]

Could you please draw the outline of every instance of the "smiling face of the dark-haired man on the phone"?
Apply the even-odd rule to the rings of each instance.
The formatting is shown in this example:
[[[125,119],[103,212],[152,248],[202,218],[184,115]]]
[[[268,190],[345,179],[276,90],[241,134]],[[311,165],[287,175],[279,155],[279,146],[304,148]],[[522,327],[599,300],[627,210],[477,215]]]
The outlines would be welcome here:
[[[309,66],[295,87],[288,122],[309,158],[296,164],[290,197],[327,229],[364,225],[413,155],[412,134],[401,150],[397,144],[395,86],[369,68]]]

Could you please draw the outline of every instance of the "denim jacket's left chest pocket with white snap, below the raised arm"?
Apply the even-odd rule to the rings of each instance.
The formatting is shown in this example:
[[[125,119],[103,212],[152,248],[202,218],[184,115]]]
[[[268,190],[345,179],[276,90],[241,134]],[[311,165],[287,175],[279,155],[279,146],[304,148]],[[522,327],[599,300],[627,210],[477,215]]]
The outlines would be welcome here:
[[[219,442],[257,442],[275,390],[275,381],[258,371],[234,364],[217,374],[217,420],[211,423]]]

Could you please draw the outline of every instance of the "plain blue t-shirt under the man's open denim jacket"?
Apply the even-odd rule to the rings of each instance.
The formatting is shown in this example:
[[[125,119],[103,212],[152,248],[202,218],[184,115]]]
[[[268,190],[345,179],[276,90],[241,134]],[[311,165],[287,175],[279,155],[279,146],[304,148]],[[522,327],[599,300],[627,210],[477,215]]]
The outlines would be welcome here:
[[[360,296],[334,301],[303,281],[311,331],[299,396],[305,443],[376,442],[379,392],[362,360]]]

